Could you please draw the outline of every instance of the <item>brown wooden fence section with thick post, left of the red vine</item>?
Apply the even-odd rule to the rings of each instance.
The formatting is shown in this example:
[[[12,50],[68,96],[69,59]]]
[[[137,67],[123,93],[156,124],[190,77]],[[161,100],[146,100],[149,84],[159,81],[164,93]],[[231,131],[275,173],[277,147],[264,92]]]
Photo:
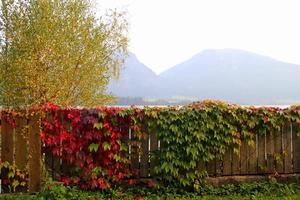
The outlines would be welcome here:
[[[1,114],[2,118],[6,115]],[[6,120],[1,120],[1,161],[15,164],[20,170],[27,169],[28,188],[25,191],[37,192],[41,183],[40,120],[38,115],[32,114],[17,116],[15,122],[13,128]],[[1,173],[1,179],[5,176],[6,173]],[[2,192],[7,192],[7,188]]]

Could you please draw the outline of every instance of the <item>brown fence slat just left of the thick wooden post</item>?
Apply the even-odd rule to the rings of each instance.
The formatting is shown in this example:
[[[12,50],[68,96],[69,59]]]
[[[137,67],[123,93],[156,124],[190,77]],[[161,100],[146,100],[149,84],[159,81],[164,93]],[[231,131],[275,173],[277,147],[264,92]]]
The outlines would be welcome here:
[[[27,165],[27,119],[24,116],[16,118],[15,129],[15,151],[16,151],[16,166],[20,170],[24,170]]]

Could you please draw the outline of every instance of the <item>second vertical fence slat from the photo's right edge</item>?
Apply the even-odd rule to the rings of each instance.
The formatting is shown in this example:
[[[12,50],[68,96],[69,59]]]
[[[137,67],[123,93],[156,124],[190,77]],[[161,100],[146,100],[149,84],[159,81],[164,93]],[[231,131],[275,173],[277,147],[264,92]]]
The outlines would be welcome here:
[[[284,173],[293,173],[293,161],[292,161],[292,135],[291,124],[286,123],[283,127],[283,154],[284,154]]]

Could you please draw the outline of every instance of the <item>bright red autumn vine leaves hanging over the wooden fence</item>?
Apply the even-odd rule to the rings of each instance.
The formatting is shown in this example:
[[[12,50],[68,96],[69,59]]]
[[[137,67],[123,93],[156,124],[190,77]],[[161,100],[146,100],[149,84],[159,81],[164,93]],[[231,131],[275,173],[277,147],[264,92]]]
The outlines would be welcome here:
[[[45,152],[61,159],[59,178],[83,189],[108,189],[132,173],[126,157],[128,129],[135,128],[120,108],[76,109],[47,104],[42,121]],[[127,180],[128,181],[128,180]]]

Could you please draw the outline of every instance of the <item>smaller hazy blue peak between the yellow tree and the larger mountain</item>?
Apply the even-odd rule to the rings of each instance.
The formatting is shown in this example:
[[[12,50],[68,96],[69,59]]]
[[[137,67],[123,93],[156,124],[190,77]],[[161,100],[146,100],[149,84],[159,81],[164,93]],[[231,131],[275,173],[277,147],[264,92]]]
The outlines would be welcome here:
[[[159,85],[160,77],[130,53],[119,79],[110,81],[108,91],[120,97],[155,97]]]

